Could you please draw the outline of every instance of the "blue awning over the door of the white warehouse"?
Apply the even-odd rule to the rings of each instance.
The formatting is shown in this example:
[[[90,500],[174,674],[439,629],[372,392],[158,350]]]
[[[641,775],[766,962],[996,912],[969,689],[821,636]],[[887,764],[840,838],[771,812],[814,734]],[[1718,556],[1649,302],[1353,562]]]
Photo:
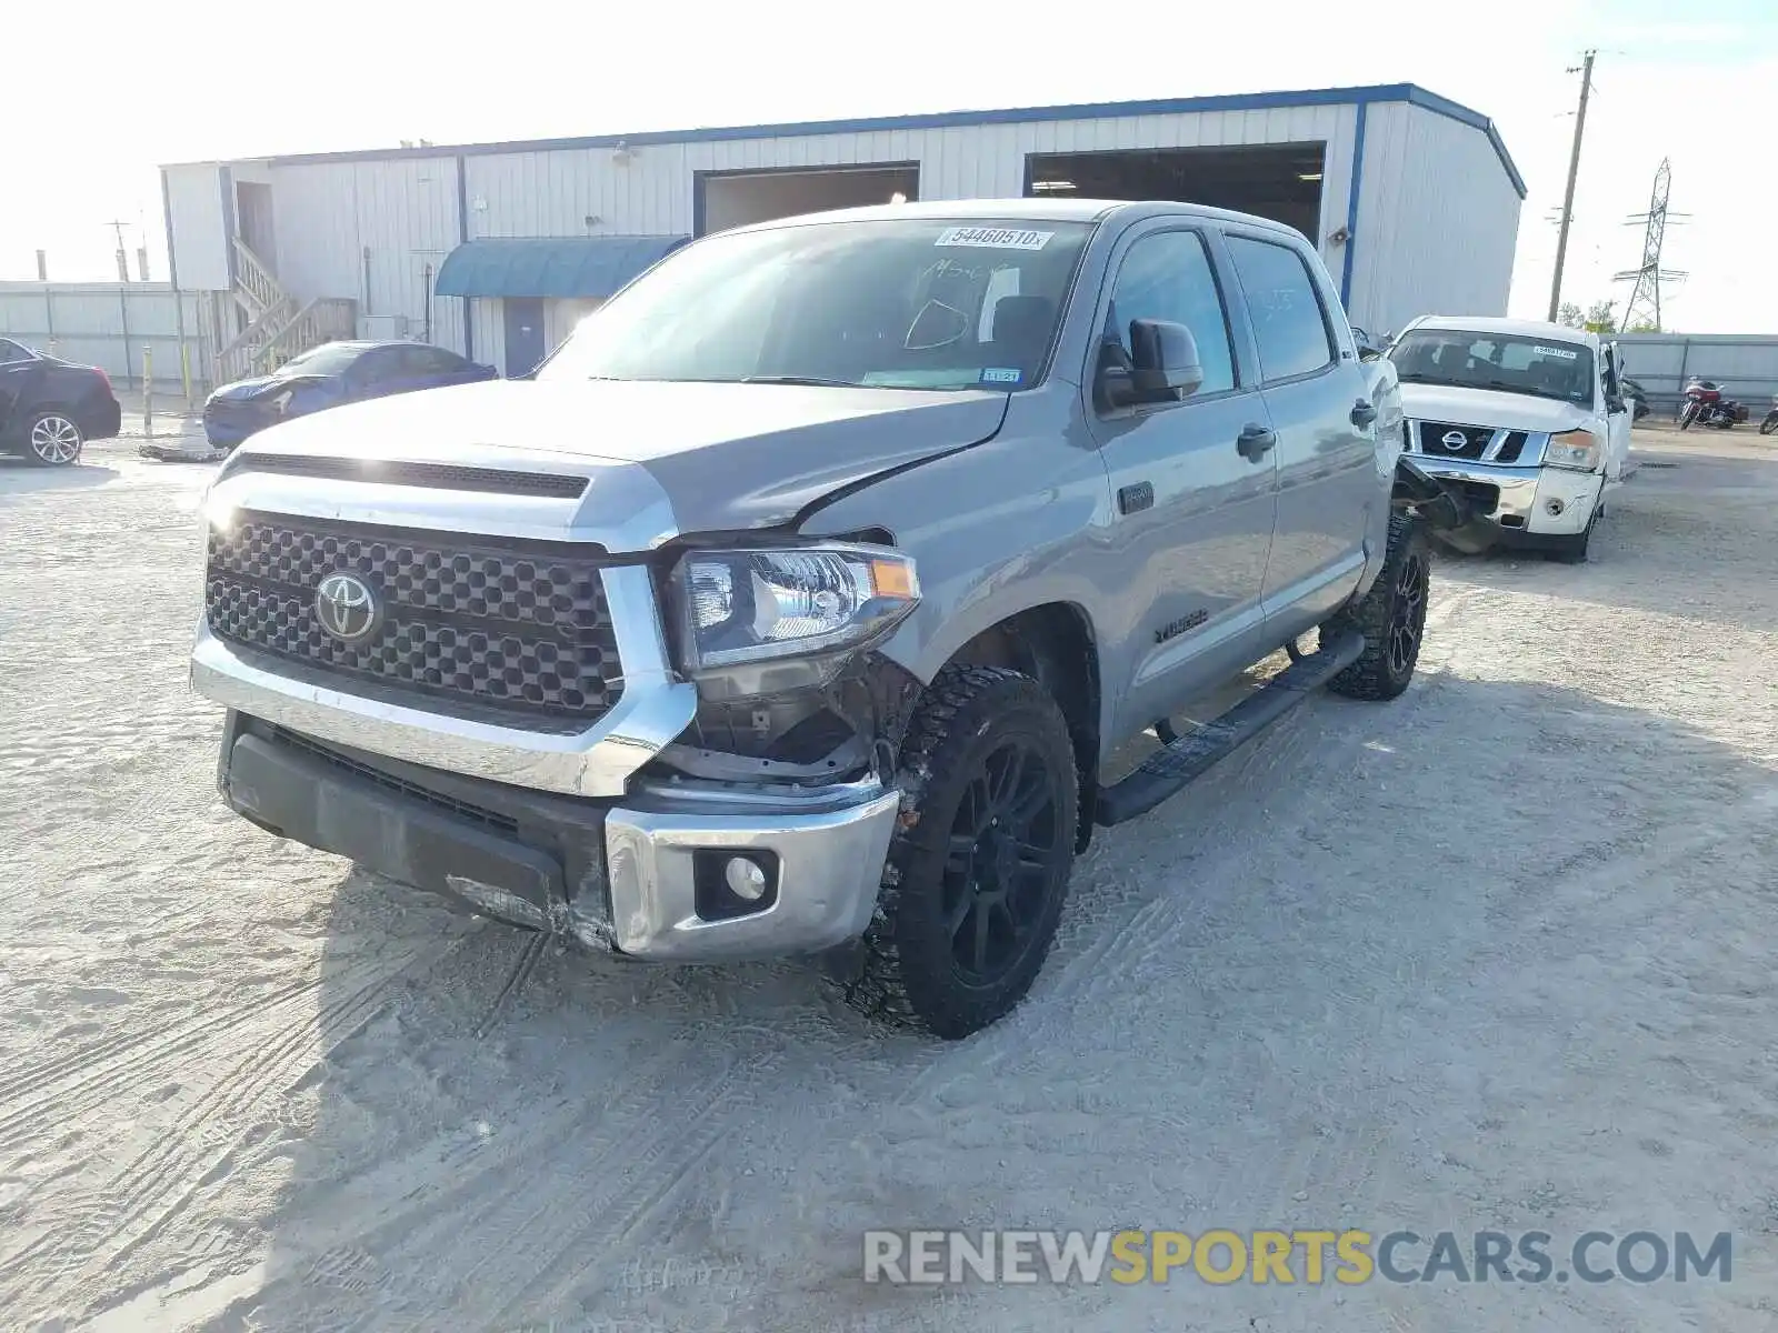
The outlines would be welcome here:
[[[489,236],[444,256],[441,297],[610,297],[690,236]]]

